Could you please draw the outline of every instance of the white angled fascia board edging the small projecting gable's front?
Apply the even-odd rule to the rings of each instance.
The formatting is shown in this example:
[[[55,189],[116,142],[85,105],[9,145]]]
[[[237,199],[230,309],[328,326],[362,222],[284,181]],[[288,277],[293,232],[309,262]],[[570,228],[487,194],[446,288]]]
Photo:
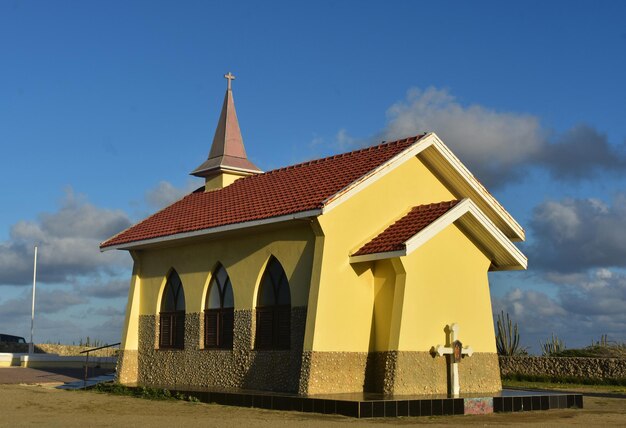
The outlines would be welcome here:
[[[454,223],[464,215],[471,215],[480,225],[496,240],[500,245],[520,266],[518,269],[526,269],[528,259],[526,256],[511,242],[509,238],[487,217],[476,204],[469,198],[463,199],[450,211],[439,217],[430,225],[422,229],[419,233],[406,241],[406,253],[411,254],[413,251],[424,245],[431,238],[441,232],[443,229]],[[497,266],[494,266],[496,269]],[[503,269],[503,266],[500,266]]]

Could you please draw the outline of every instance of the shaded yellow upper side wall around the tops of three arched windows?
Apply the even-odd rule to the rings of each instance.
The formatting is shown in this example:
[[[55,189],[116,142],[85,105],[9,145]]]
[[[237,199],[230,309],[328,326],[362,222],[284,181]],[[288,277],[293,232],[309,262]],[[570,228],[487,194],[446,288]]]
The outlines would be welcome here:
[[[314,236],[308,222],[288,227],[250,229],[236,236],[176,247],[139,252],[141,263],[141,315],[159,312],[166,275],[176,269],[183,283],[187,312],[204,310],[210,275],[218,262],[233,286],[235,309],[256,306],[256,291],[271,255],[285,269],[292,306],[306,306],[311,278]]]

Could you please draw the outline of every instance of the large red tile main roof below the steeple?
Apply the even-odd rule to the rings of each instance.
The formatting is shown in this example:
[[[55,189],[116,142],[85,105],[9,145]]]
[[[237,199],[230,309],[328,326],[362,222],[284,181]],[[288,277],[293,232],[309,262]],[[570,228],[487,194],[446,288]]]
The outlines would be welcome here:
[[[320,209],[328,198],[424,135],[251,175],[212,192],[198,189],[100,248]]]

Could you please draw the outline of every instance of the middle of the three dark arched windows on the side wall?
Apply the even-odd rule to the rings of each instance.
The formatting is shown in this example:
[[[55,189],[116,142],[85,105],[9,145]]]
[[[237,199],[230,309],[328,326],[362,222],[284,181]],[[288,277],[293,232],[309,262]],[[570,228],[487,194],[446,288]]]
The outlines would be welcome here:
[[[219,265],[209,283],[204,309],[204,347],[232,349],[235,319],[233,286],[224,266]]]

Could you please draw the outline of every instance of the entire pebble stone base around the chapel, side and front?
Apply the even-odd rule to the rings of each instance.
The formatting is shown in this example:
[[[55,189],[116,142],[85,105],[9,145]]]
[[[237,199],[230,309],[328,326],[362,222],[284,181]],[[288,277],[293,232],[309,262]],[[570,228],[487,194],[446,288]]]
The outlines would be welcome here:
[[[253,349],[255,316],[235,311],[232,350],[204,349],[200,313],[186,314],[185,348],[158,349],[159,317],[139,318],[139,350],[123,350],[118,380],[159,387],[239,388],[301,395],[375,392],[382,394],[447,394],[447,357],[430,352],[303,351],[306,308],[293,308],[291,349]],[[476,352],[459,364],[465,393],[500,391],[495,353]]]

